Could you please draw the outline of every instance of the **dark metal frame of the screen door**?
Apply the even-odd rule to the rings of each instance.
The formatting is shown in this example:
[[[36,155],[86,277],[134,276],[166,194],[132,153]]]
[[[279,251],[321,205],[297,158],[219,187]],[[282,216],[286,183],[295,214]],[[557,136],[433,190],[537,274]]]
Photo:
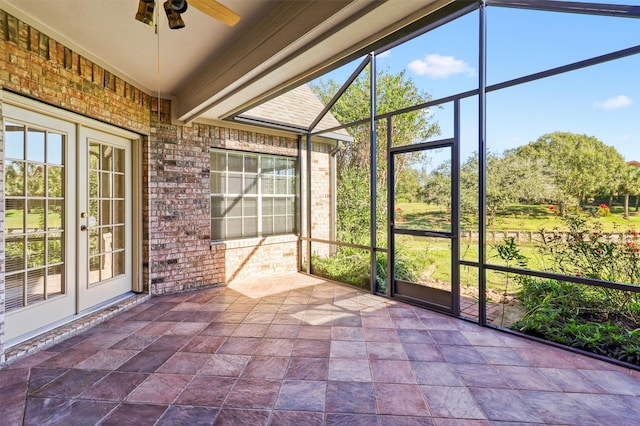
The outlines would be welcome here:
[[[390,146],[388,150],[389,179],[388,207],[388,264],[387,286],[389,296],[455,317],[460,315],[460,102],[454,104],[453,137],[402,146]],[[395,156],[439,148],[451,149],[451,231],[398,229],[395,224]],[[447,239],[451,243],[451,291],[420,286],[395,278],[395,236],[413,235]]]

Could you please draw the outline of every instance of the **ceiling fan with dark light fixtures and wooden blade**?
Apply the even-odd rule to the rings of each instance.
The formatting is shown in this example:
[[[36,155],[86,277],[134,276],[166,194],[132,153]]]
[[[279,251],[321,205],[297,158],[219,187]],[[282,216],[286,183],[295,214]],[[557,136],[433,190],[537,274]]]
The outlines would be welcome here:
[[[216,0],[189,0],[189,3],[202,13],[231,27],[240,20],[240,15]],[[153,25],[153,9],[155,4],[155,0],[138,0],[136,20],[147,25]],[[167,19],[169,20],[169,28],[172,30],[184,28],[185,24],[181,14],[187,11],[189,6],[187,0],[167,0],[163,6],[167,14]]]

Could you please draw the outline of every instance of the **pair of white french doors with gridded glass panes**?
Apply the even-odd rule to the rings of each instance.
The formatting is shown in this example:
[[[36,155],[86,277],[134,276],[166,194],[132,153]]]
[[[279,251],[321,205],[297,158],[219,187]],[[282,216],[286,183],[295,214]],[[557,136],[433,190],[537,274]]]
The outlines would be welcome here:
[[[131,291],[132,141],[3,105],[5,342]]]

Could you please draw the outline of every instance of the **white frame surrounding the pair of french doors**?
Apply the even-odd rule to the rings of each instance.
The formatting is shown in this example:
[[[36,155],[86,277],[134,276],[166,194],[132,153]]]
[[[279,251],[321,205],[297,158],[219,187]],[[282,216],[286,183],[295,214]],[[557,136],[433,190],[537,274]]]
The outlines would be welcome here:
[[[94,129],[94,130],[98,130],[100,132],[104,132],[104,133],[108,133],[120,138],[124,138],[130,141],[131,143],[131,173],[132,173],[132,194],[131,194],[131,209],[132,209],[132,219],[131,219],[131,232],[132,232],[132,247],[131,247],[131,252],[129,254],[130,257],[130,262],[131,262],[131,286],[132,286],[132,291],[135,293],[141,293],[144,290],[144,285],[143,285],[143,279],[142,279],[142,260],[143,260],[143,251],[142,251],[142,243],[143,243],[143,221],[142,221],[142,193],[143,193],[143,188],[142,188],[142,138],[143,136],[132,132],[130,130],[125,130],[125,129],[121,129],[119,127],[110,125],[110,124],[106,124],[103,123],[101,121],[89,118],[89,117],[85,117],[83,115],[79,115],[77,113],[71,112],[71,111],[67,111],[67,110],[63,110],[61,108],[52,106],[52,105],[48,105],[42,102],[39,102],[37,100],[34,99],[30,99],[30,98],[25,98],[19,94],[13,93],[13,92],[7,92],[4,90],[0,89],[0,105],[3,106],[10,106],[11,108],[15,108],[18,111],[18,113],[16,114],[12,114],[12,117],[7,117],[6,112],[4,112],[2,114],[2,123],[4,123],[4,120],[6,118],[15,118],[17,120],[20,120],[20,117],[13,117],[13,115],[19,115],[21,113],[24,114],[29,114],[29,113],[36,113],[39,115],[43,115],[46,117],[51,117],[53,119],[58,119],[58,120],[62,120],[64,122],[67,122],[73,126],[75,126],[75,134],[72,138],[69,138],[67,140],[67,146],[73,146],[73,152],[75,153],[76,148],[78,146],[79,143],[81,143],[80,140],[80,136],[82,132],[82,129]],[[15,110],[14,110],[15,111]],[[37,124],[37,123],[34,123]],[[2,129],[2,131],[4,132],[4,128]],[[68,161],[76,161],[75,158],[75,154],[70,157],[68,159]],[[68,175],[68,171],[66,171],[67,175]],[[75,173],[75,171],[73,172]],[[75,179],[75,177],[74,177]],[[72,190],[75,190],[75,186],[71,186],[70,187]],[[2,195],[2,202],[4,202],[4,195]],[[74,201],[77,203],[77,200]],[[66,205],[67,210],[67,215],[69,214],[75,214],[75,210],[76,210],[76,206],[69,206],[68,203]],[[68,238],[68,244],[71,245],[76,245],[77,244],[77,226],[73,226],[73,224],[69,224],[69,227],[67,229],[67,226],[65,226],[65,231],[69,232],[69,235],[67,236]],[[4,233],[4,231],[2,231]],[[72,235],[73,234],[73,235]],[[77,257],[77,256],[75,256]],[[76,288],[77,283],[78,283],[78,273],[80,270],[79,265],[77,265],[76,259],[70,259],[69,260],[71,263],[73,263],[73,267],[71,263],[69,263],[67,265],[67,271],[68,271],[68,278],[67,278],[67,285],[70,286],[72,285],[74,288]],[[66,263],[66,262],[65,262]],[[3,283],[3,285],[6,285],[6,283]],[[108,304],[108,302],[106,303]],[[98,306],[104,306],[105,303],[98,305]],[[89,314],[93,311],[95,311],[95,309],[97,307],[91,307],[88,309],[85,309],[83,311],[81,311],[79,308],[79,300],[78,300],[78,291],[74,290],[74,295],[73,295],[73,306],[74,306],[74,310],[75,313],[73,313],[72,315],[69,315],[66,318],[63,318],[61,320],[49,323],[47,325],[44,325],[43,327],[34,329],[34,330],[30,330],[28,332],[24,332],[24,333],[20,333],[19,335],[13,336],[12,338],[4,341],[4,342],[0,342],[0,343],[4,343],[5,348],[6,347],[10,347],[13,346],[15,344],[18,344],[22,341],[25,341],[33,336],[36,336],[38,334],[41,334],[45,331],[51,330],[55,327],[58,327],[62,324],[66,324],[72,321],[75,321],[79,318],[81,318],[82,316]],[[4,313],[4,317],[6,319],[7,317],[7,313]]]

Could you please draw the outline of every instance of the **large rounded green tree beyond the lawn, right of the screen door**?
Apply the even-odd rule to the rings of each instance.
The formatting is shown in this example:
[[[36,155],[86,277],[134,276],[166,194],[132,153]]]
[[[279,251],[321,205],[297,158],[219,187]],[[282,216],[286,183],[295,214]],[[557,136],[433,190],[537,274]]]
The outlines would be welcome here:
[[[521,158],[542,160],[545,173],[553,177],[555,199],[564,215],[566,206],[583,203],[598,193],[610,194],[616,186],[616,171],[624,165],[618,151],[593,136],[555,132],[541,136],[535,142],[517,148]]]

